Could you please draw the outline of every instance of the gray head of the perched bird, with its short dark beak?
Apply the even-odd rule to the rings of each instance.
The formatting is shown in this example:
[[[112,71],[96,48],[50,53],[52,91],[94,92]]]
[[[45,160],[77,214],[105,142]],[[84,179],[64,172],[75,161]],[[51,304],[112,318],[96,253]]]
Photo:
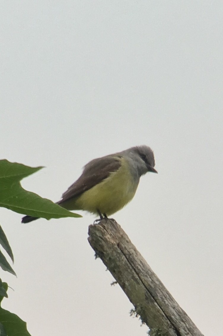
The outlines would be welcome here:
[[[128,155],[132,156],[132,159],[137,164],[139,175],[144,175],[148,171],[157,173],[156,169],[154,169],[155,166],[154,154],[150,147],[146,145],[135,146],[129,148],[125,152],[127,152]]]

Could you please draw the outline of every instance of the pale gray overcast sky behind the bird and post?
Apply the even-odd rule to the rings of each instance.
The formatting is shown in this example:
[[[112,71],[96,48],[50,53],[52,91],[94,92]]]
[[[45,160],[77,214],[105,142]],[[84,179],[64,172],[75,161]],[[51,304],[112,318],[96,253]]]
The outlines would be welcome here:
[[[147,174],[113,217],[205,336],[222,336],[222,1],[2,1],[1,157],[45,169],[58,201],[93,158],[147,144]],[[0,209],[17,279],[3,307],[32,336],[146,335],[100,260],[94,217]]]

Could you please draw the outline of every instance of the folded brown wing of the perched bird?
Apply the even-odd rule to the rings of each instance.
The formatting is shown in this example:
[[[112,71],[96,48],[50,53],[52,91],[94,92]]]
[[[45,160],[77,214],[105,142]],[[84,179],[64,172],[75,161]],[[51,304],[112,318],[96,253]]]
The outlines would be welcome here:
[[[71,198],[80,196],[83,192],[107,178],[111,172],[118,170],[120,166],[120,157],[106,156],[90,161],[85,166],[82,175],[63,193],[62,199],[57,203],[61,204]]]

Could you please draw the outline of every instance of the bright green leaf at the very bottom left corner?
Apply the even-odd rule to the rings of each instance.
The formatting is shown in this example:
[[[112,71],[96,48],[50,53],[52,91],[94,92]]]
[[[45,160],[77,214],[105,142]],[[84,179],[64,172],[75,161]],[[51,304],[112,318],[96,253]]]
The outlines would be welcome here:
[[[7,291],[8,285],[3,282],[3,286]],[[2,299],[3,297],[0,297],[0,301],[2,301]],[[0,333],[1,336],[31,336],[27,331],[26,322],[22,321],[16,314],[3,309],[2,307],[0,307],[0,324],[4,328],[3,331],[6,331],[6,334]]]

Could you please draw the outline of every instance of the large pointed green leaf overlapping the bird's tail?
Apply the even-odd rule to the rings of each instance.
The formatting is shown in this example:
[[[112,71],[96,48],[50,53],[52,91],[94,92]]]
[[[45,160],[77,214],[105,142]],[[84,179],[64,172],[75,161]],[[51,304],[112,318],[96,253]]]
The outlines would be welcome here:
[[[33,217],[82,217],[52,201],[22,188],[20,180],[43,167],[28,167],[20,163],[0,160],[0,207]]]

